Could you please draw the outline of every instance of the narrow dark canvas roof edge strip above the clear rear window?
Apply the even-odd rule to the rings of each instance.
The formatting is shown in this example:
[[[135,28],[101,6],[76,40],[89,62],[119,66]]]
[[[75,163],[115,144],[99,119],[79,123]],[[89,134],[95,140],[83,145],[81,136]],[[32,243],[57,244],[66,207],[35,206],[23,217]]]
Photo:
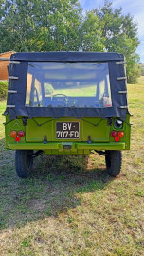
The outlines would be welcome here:
[[[123,54],[115,52],[21,52],[11,55],[15,61],[40,62],[104,62],[122,61]]]

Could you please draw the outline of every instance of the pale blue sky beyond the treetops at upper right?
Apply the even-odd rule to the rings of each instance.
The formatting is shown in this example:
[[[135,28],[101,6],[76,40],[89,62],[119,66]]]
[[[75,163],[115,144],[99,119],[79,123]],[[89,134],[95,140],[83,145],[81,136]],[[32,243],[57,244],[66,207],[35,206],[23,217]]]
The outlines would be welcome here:
[[[134,18],[138,28],[138,38],[140,41],[137,47],[137,53],[140,56],[140,62],[144,63],[144,0],[110,0],[113,8],[122,8],[123,14],[128,14]],[[91,10],[104,5],[104,0],[80,0],[81,7],[85,10]]]

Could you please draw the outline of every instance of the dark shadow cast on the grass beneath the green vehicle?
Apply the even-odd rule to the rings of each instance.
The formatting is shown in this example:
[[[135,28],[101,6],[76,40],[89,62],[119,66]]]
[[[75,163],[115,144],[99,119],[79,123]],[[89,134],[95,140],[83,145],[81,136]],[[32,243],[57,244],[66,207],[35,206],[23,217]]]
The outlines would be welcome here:
[[[0,156],[0,161],[5,158],[1,168],[1,229],[57,218],[80,205],[83,193],[102,192],[113,180],[99,155],[41,155],[27,179],[16,176],[13,151]]]

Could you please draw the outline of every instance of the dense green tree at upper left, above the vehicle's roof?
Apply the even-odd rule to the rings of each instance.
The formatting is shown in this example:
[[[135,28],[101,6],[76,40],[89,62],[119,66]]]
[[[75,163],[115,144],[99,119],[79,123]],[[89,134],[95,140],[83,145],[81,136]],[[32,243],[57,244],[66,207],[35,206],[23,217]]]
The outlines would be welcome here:
[[[79,49],[77,0],[6,0],[2,6],[0,51]]]

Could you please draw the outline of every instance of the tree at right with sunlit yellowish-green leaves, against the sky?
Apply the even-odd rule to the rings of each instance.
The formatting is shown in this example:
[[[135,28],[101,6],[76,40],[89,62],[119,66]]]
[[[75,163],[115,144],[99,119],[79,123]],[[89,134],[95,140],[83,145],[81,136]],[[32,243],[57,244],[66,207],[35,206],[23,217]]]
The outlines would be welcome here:
[[[99,17],[99,27],[102,31],[105,50],[123,53],[126,58],[128,82],[136,82],[140,75],[138,68],[139,57],[135,54],[139,44],[137,25],[130,14],[123,15],[122,9],[113,9],[112,3],[105,1],[104,6],[94,9]],[[134,77],[134,78],[133,78]]]

